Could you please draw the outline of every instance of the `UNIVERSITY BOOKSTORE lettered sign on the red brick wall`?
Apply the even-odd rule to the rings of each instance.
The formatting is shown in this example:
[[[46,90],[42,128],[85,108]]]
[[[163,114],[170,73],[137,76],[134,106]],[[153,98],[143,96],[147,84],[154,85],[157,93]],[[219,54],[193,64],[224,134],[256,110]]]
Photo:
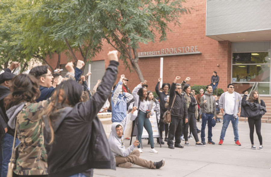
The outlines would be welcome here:
[[[187,55],[201,53],[198,51],[198,46],[173,47],[165,48],[157,51],[138,52],[138,57],[151,56],[167,56],[167,55]]]

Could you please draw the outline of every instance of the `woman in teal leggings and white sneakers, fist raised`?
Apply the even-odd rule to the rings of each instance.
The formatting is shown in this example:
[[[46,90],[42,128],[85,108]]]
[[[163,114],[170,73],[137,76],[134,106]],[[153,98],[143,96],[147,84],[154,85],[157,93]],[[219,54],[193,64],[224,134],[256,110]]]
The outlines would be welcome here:
[[[144,127],[149,135],[149,141],[151,144],[150,152],[158,153],[154,149],[153,131],[152,131],[152,127],[151,127],[151,122],[148,119],[148,116],[152,116],[154,114],[154,110],[153,110],[153,108],[151,110],[149,110],[151,103],[150,103],[150,101],[148,101],[147,89],[145,87],[142,87],[142,85],[143,84],[146,85],[146,83],[147,83],[147,81],[144,81],[144,83],[141,82],[132,91],[132,95],[135,99],[134,105],[136,107],[139,107],[138,108],[138,110],[139,110],[138,117],[136,118],[136,122],[138,122],[137,123],[137,130],[138,130],[137,140],[139,140],[139,143],[141,142],[141,136],[142,136],[143,127]],[[140,102],[140,104],[139,104],[139,102]],[[147,113],[147,110],[149,110],[150,113]],[[139,152],[142,153],[142,150],[140,149],[140,144],[137,146],[137,148],[138,148]]]

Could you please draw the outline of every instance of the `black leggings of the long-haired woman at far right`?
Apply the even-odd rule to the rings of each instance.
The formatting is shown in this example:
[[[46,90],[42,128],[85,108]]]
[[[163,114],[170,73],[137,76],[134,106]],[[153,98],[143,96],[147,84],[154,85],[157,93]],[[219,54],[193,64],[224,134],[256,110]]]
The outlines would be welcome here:
[[[249,126],[249,129],[250,129],[249,136],[250,136],[251,144],[254,144],[254,138],[253,138],[254,125],[255,125],[255,128],[256,128],[256,134],[258,135],[258,139],[260,141],[260,145],[263,145],[263,138],[262,138],[262,135],[261,135],[261,125],[262,125],[261,119],[254,120],[253,118],[248,118],[248,126]]]

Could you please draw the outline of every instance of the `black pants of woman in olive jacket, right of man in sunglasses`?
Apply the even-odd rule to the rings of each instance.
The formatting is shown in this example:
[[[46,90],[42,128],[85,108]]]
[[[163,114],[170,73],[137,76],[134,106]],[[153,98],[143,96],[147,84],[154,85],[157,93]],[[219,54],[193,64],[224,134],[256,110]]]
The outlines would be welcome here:
[[[188,111],[188,122],[184,125],[184,131],[183,136],[185,138],[185,141],[188,141],[188,125],[192,130],[193,137],[195,138],[195,141],[198,142],[198,132],[197,132],[197,120],[195,118],[195,113]],[[176,137],[175,137],[176,138]]]

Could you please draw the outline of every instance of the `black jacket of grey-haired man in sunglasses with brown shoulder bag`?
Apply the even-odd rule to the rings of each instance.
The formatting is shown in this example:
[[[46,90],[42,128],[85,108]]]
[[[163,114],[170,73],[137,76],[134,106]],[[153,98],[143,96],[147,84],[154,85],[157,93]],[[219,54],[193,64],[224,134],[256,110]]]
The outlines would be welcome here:
[[[186,118],[188,119],[187,107],[185,104],[185,98],[183,95],[179,94],[178,91],[175,91],[176,83],[172,83],[170,86],[170,100],[168,110],[171,109],[171,105],[176,94],[176,98],[171,110],[171,115],[176,116],[179,119]]]

